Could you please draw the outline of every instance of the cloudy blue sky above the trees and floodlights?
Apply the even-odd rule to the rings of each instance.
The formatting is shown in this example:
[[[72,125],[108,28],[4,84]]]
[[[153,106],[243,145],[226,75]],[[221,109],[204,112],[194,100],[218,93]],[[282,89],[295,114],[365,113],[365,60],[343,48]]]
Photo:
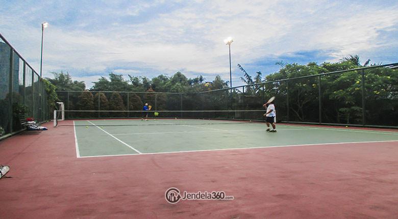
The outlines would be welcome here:
[[[219,74],[232,85],[243,73],[276,72],[275,63],[398,62],[398,1],[6,1],[0,33],[43,76],[69,72],[92,81],[111,72],[146,76]]]

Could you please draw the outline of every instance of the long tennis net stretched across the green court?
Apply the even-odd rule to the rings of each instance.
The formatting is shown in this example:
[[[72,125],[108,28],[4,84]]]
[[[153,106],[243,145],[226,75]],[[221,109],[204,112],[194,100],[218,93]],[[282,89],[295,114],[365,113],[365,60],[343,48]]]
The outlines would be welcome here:
[[[105,120],[110,121],[102,126],[138,126],[138,125],[179,125],[179,122],[167,123],[136,123],[140,119],[188,119],[184,123],[195,120],[193,124],[229,124],[265,121],[264,110],[219,110],[219,111],[54,111],[54,126],[72,126],[70,123],[60,123],[64,113],[65,118],[73,120]],[[147,115],[147,116],[146,116]],[[191,120],[189,120],[191,119]],[[129,122],[130,120],[130,122]],[[173,120],[170,120],[173,121]],[[90,126],[84,125],[84,126]],[[94,125],[92,125],[94,126]]]

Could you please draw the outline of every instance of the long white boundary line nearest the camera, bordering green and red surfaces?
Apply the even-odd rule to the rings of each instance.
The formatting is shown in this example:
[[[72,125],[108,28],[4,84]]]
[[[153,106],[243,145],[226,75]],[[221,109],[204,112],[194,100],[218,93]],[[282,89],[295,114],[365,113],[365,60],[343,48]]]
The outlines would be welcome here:
[[[141,153],[141,154],[114,154],[114,155],[96,155],[96,156],[84,156],[86,157],[113,157],[113,156],[127,156],[127,155],[147,155],[147,154],[175,154],[175,153],[190,153],[190,152],[206,152],[206,151],[229,151],[229,150],[246,150],[246,149],[264,149],[264,148],[283,148],[283,147],[300,147],[300,146],[317,146],[317,145],[341,145],[341,144],[360,144],[360,143],[383,143],[383,142],[398,142],[398,140],[392,141],[374,141],[374,142],[339,142],[339,143],[319,143],[319,144],[307,144],[307,145],[282,145],[282,146],[263,146],[263,147],[248,147],[248,148],[225,148],[225,149],[209,149],[209,150],[196,150],[196,151],[171,151],[171,152],[154,152],[154,153]]]

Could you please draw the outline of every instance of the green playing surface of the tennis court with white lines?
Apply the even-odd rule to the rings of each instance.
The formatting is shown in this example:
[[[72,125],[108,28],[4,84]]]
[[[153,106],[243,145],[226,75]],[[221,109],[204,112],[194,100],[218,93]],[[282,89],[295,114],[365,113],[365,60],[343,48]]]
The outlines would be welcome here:
[[[398,132],[221,120],[77,120],[78,157],[398,141]]]

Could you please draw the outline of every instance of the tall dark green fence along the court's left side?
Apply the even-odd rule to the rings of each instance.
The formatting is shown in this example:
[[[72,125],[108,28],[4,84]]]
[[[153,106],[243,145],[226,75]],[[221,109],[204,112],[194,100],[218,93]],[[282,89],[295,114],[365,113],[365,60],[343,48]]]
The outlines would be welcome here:
[[[50,114],[40,76],[0,35],[0,135],[22,130],[20,115],[43,122]]]

